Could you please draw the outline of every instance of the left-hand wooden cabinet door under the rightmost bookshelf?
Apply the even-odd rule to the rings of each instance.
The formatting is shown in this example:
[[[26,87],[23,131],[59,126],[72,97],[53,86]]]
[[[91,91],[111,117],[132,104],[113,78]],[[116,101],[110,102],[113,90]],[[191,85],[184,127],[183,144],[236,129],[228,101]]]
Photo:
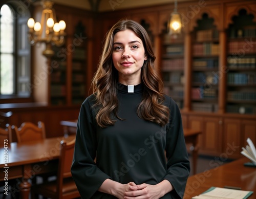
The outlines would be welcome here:
[[[224,119],[223,153],[228,158],[242,157],[241,151],[241,120]]]

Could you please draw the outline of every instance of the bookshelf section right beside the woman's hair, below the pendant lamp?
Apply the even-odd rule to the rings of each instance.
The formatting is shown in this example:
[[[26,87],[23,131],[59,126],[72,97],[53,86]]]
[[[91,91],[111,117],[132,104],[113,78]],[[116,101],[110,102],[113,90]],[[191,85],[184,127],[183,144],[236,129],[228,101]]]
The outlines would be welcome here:
[[[171,96],[180,108],[184,98],[184,40],[183,35],[163,34],[162,78],[164,93]]]

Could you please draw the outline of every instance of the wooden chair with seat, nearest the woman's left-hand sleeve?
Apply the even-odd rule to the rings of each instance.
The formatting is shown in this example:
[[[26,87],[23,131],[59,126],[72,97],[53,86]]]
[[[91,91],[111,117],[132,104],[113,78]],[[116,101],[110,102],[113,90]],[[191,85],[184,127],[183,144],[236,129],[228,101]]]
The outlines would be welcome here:
[[[61,150],[56,181],[32,186],[32,199],[35,198],[36,195],[42,195],[44,197],[53,199],[80,197],[76,184],[71,175],[71,164],[73,161],[75,139],[68,143],[62,140],[60,145]]]

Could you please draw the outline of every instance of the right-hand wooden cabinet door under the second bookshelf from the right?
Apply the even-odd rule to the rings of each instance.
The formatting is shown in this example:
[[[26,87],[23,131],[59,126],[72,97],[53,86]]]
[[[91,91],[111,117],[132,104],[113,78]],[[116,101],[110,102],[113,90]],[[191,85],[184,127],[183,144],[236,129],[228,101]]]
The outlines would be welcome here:
[[[210,155],[219,156],[222,149],[221,119],[217,117],[204,117],[202,150]]]

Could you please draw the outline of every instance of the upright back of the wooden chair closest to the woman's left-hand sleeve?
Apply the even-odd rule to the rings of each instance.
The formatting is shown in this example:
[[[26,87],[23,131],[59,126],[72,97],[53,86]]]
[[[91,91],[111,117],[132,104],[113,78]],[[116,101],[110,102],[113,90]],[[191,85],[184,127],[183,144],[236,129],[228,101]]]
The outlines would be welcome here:
[[[74,147],[75,139],[70,142],[64,140],[60,142],[61,149],[57,175],[57,192],[59,196],[62,195],[63,181],[65,181],[65,179],[67,178],[72,177],[71,165],[73,161]]]

